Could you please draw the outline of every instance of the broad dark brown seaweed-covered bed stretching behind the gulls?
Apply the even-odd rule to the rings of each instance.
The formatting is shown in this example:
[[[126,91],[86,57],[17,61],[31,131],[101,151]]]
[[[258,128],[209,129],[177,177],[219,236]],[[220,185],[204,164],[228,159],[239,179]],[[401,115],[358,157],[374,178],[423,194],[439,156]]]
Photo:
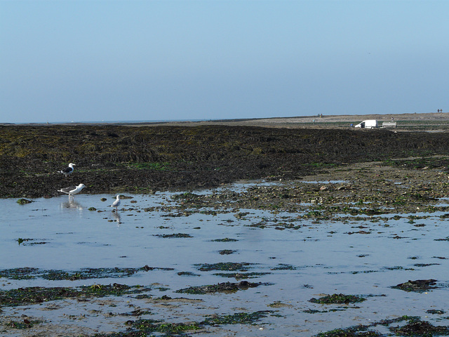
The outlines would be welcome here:
[[[0,126],[0,197],[188,190],[330,166],[447,154],[449,133],[255,126]],[[69,162],[69,178],[57,173]],[[83,191],[84,192],[84,191]]]

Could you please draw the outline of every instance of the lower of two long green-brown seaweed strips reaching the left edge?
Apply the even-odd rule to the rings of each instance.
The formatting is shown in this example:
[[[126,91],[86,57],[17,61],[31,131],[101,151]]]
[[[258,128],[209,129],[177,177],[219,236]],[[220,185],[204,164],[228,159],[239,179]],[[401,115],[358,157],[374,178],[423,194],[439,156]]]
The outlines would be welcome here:
[[[0,290],[0,306],[15,307],[65,298],[121,296],[125,293],[142,293],[149,290],[151,289],[143,286],[126,286],[117,283],[109,285],[94,284],[92,286],[80,286],[79,288],[32,286],[8,291]]]

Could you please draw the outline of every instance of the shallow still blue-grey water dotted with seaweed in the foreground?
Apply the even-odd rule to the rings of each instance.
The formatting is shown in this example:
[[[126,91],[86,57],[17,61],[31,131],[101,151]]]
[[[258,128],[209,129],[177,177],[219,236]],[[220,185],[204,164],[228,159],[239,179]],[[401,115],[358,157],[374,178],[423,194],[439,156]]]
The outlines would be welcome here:
[[[241,190],[245,186],[248,187],[236,185],[232,188]],[[446,221],[439,218],[441,213],[427,214],[431,217],[415,223],[406,218],[375,217],[362,222],[316,222],[298,219],[295,213],[251,209],[187,216],[178,209],[169,209],[176,206],[171,199],[173,194],[127,194],[133,198],[123,199],[117,213],[108,207],[114,201],[112,195],[79,194],[71,202],[67,196],[42,198],[25,205],[17,204],[17,199],[1,199],[2,270],[36,267],[75,271],[144,265],[173,270],[155,269],[119,279],[76,281],[0,278],[0,289],[116,282],[152,285],[150,294],[154,298],[166,295],[200,300],[161,302],[125,296],[86,303],[62,300],[26,305],[29,317],[44,317],[51,324],[81,326],[80,329],[87,332],[124,331],[126,326],[123,323],[130,317],[116,314],[131,312],[135,308],[151,310],[152,315],[142,318],[166,322],[201,322],[205,315],[214,313],[232,315],[235,312],[276,310],[276,315],[268,315],[255,325],[211,327],[208,331],[213,331],[214,336],[232,336],[234,333],[239,336],[313,336],[321,331],[402,315],[420,316],[435,325],[449,324],[449,242],[435,241],[449,237]],[[103,197],[107,201],[101,201]],[[90,211],[91,207],[96,210]],[[145,211],[149,207],[156,207],[156,210]],[[250,227],[262,219],[267,227]],[[284,227],[277,225],[281,223],[300,227],[281,230]],[[417,224],[424,226],[417,227]],[[192,237],[161,237],[177,233]],[[19,238],[25,241],[18,244]],[[224,238],[237,241],[212,241]],[[222,249],[235,252],[221,255],[219,251]],[[267,274],[248,279],[262,282],[260,286],[236,293],[175,293],[189,286],[236,282],[234,278],[214,275],[220,271],[199,270],[203,263],[220,262],[250,263],[247,272]],[[180,276],[178,272],[192,272],[199,276]],[[437,279],[441,287],[422,293],[391,289],[391,286],[409,279]],[[349,305],[309,302],[311,298],[332,293],[358,295],[367,300]],[[19,309],[2,308],[5,315],[15,315],[13,312],[22,314]],[[427,310],[431,309],[444,310],[445,315],[430,315]],[[114,315],[109,317],[107,312]],[[385,332],[380,326],[375,329]]]

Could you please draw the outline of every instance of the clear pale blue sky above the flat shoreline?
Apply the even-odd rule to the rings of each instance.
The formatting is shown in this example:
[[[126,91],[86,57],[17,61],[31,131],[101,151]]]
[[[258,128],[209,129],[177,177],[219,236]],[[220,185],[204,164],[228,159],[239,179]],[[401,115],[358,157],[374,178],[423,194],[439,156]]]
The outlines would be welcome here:
[[[0,0],[0,122],[449,112],[449,1]]]

